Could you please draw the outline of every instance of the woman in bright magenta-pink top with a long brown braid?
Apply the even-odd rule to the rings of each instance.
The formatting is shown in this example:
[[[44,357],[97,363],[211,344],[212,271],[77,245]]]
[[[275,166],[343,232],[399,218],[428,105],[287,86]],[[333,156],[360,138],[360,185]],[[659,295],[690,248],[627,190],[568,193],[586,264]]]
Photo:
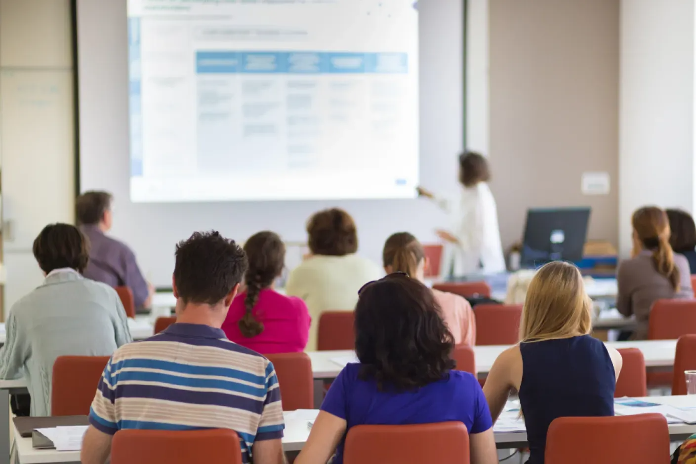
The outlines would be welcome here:
[[[273,289],[285,265],[283,240],[276,233],[259,232],[246,241],[244,252],[246,290],[232,300],[222,324],[227,338],[260,354],[303,351],[311,322],[307,305]]]

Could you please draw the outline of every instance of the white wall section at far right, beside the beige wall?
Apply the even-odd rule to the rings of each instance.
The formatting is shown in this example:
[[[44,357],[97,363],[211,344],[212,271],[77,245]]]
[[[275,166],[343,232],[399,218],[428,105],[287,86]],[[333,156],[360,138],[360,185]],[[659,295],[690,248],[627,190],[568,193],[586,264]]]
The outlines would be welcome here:
[[[695,206],[694,0],[622,0],[619,245],[646,204]]]

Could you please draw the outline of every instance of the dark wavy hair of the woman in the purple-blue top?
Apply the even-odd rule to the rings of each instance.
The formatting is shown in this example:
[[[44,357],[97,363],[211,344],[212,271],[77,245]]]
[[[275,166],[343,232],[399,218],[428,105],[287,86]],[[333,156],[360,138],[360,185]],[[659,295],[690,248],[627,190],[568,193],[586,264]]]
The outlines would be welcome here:
[[[360,378],[379,390],[413,390],[447,378],[454,361],[452,333],[432,291],[405,274],[369,283],[355,308]]]

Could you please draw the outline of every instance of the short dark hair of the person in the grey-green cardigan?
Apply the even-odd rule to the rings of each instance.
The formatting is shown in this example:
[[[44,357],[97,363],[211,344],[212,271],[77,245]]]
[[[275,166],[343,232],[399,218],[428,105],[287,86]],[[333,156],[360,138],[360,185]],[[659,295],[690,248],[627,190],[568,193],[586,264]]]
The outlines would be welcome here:
[[[82,274],[89,261],[89,241],[75,226],[49,224],[34,240],[33,252],[46,274],[63,267]]]

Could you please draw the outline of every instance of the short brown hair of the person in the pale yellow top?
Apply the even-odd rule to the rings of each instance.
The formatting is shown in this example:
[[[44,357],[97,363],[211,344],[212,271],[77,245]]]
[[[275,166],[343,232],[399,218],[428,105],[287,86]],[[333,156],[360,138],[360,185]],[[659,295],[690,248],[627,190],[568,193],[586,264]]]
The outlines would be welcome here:
[[[307,233],[313,254],[344,256],[358,251],[355,222],[340,208],[315,213],[307,222]]]

